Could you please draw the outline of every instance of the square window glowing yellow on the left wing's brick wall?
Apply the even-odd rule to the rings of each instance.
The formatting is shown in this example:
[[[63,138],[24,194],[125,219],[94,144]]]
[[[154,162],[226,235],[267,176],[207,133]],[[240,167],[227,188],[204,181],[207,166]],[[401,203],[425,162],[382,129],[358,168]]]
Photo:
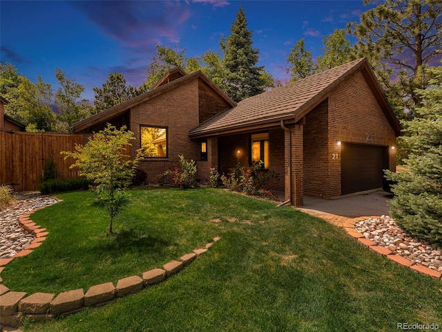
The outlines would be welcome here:
[[[141,147],[146,157],[167,156],[167,129],[164,127],[141,127]]]

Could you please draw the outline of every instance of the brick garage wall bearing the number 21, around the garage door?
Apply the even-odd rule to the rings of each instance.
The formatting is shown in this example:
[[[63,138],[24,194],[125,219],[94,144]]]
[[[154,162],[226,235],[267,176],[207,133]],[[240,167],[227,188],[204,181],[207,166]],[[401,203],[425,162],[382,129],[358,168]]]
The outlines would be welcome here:
[[[389,168],[396,170],[396,137],[362,73],[342,82],[306,116],[304,190],[311,196],[340,196],[341,148],[336,144],[388,147]]]

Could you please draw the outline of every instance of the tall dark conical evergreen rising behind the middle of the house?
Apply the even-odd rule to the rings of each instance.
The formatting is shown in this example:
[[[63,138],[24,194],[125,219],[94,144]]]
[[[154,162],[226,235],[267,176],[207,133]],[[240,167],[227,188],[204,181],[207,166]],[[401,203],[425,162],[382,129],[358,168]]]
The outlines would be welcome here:
[[[256,66],[259,50],[252,47],[252,31],[247,30],[247,20],[242,8],[236,14],[231,32],[229,37],[222,39],[220,46],[224,50],[227,94],[239,102],[264,92],[267,86],[262,77],[264,67]]]

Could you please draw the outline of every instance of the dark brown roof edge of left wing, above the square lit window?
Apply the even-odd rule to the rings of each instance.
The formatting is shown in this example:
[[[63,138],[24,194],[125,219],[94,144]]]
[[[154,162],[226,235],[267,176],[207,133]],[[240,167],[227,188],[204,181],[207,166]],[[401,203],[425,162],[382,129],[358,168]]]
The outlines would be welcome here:
[[[180,68],[182,71],[182,69]],[[174,68],[172,71],[180,72]],[[182,71],[184,73],[184,71]],[[185,73],[184,73],[185,74]],[[167,75],[167,74],[166,74]],[[164,75],[164,77],[166,77]],[[164,78],[163,77],[163,78]],[[141,95],[138,95],[135,98],[132,98],[130,100],[126,100],[126,102],[122,102],[121,104],[115,105],[114,107],[111,107],[110,109],[106,109],[105,111],[102,111],[100,113],[97,113],[93,116],[90,116],[89,118],[86,118],[84,120],[81,120],[79,122],[75,122],[73,124],[74,133],[77,133],[79,131],[82,131],[84,129],[87,129],[88,127],[92,127],[95,124],[99,124],[102,122],[110,121],[112,118],[115,118],[115,116],[119,116],[120,114],[124,113],[128,109],[131,109],[132,107],[137,106],[138,104],[141,104],[142,102],[146,102],[147,100],[151,100],[152,98],[155,98],[159,95],[162,95],[163,93],[166,93],[167,91],[171,91],[175,89],[177,86],[180,86],[182,84],[185,84],[187,82],[191,82],[192,80],[199,79],[202,80],[209,88],[215,92],[224,102],[226,102],[230,107],[236,106],[236,102],[231,100],[228,95],[224,93],[218,86],[216,86],[202,71],[195,71],[195,73],[191,73],[185,76],[182,76],[180,78],[177,78],[169,83],[165,83],[163,85],[158,85],[158,83],[155,85],[157,86],[155,89],[152,89],[150,91],[147,91],[145,93],[142,93]],[[163,79],[162,79],[163,80]],[[162,82],[162,80],[159,81]]]

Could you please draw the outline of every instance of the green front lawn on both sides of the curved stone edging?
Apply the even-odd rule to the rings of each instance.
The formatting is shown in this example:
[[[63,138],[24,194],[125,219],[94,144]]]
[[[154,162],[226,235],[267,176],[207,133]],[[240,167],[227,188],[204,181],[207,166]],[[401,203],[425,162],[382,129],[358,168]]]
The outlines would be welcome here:
[[[215,235],[222,239],[162,284],[58,320],[26,322],[25,331],[396,331],[401,322],[442,326],[440,281],[369,251],[322,219],[221,190],[131,194],[133,202],[116,223],[120,234],[131,236],[113,239],[104,235],[107,220],[93,196],[60,195],[63,203],[35,214],[37,223],[50,231],[48,239],[32,255],[6,266],[6,285],[15,291],[49,291],[65,288],[66,282],[68,288],[86,291],[88,286],[82,285],[140,275]],[[104,259],[106,252],[113,255],[111,261]],[[97,256],[89,264],[93,273],[76,268],[80,263],[73,257],[81,255],[86,261]],[[66,257],[68,264],[61,260]],[[119,266],[116,272],[114,265]],[[50,282],[26,277],[41,269],[51,272]],[[80,274],[59,275],[73,273]]]

